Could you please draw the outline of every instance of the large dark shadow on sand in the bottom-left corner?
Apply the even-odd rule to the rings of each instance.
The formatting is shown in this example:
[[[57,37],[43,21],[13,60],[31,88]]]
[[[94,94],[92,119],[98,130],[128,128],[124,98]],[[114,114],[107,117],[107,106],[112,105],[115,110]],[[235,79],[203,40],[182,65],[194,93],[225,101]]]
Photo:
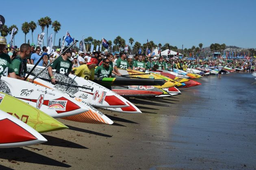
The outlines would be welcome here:
[[[28,151],[23,148],[1,149],[0,158],[6,159],[8,161],[13,160],[13,161],[28,162],[28,163],[40,164],[40,165],[59,166],[59,167],[65,167],[65,168],[71,167],[68,164],[64,164],[62,162],[56,161],[54,159],[51,159],[49,157],[40,155],[32,151]]]

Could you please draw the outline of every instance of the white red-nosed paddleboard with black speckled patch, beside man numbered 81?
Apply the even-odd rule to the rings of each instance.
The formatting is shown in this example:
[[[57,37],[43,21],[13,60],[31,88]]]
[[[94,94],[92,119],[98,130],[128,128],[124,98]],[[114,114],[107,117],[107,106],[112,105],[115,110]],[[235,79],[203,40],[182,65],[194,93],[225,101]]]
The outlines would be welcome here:
[[[30,71],[33,65],[28,64],[27,67],[28,71]],[[37,68],[33,70],[33,73],[37,74],[43,68],[44,67],[37,66]],[[106,87],[94,83],[93,81],[89,81],[81,77],[67,74],[65,72],[59,72],[56,70],[52,70],[52,72],[57,81],[70,84],[70,87],[68,87],[68,85],[56,84],[56,87],[60,87],[61,89],[64,89],[70,94],[78,96],[78,98],[84,99],[88,104],[92,106],[119,108],[127,106],[127,100],[125,98],[107,89]],[[44,70],[38,78],[49,79],[48,71]]]

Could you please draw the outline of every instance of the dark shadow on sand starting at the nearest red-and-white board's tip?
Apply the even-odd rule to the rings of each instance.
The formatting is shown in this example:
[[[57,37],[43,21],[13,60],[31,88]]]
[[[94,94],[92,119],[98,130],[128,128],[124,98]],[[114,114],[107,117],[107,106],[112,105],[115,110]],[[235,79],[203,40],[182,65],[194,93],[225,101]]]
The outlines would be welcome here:
[[[70,142],[68,140],[64,140],[61,138],[56,138],[53,136],[43,135],[48,142],[42,143],[43,145],[50,145],[50,146],[56,146],[56,147],[66,147],[66,148],[77,148],[77,149],[88,149],[87,147],[84,147],[80,144]]]

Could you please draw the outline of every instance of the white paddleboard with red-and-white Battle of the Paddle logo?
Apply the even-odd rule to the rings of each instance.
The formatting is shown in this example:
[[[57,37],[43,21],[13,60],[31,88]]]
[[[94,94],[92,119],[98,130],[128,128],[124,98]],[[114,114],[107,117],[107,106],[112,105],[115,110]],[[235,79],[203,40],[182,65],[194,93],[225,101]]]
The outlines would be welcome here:
[[[0,80],[5,84],[0,87],[0,91],[6,94],[9,92],[9,95],[40,109],[51,117],[67,117],[88,110],[76,100],[63,97],[59,91],[10,77],[2,76]],[[9,91],[4,91],[5,86]]]

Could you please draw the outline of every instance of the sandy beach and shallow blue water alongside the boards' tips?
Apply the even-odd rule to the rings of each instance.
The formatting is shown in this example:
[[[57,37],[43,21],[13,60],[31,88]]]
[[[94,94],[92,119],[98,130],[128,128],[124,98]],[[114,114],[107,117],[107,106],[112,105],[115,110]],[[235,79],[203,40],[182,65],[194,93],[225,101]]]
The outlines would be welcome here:
[[[143,114],[102,110],[114,125],[59,119],[48,142],[0,149],[0,169],[254,169],[256,80],[208,76],[172,98],[130,98]]]

